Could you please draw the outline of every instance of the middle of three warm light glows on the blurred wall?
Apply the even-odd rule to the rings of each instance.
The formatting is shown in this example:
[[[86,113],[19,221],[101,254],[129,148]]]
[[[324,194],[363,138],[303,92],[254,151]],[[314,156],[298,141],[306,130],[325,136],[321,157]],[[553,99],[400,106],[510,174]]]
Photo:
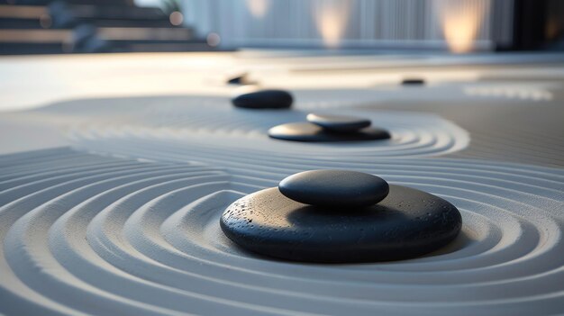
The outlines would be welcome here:
[[[349,21],[350,0],[316,0],[313,2],[317,29],[327,47],[338,47]],[[321,10],[315,11],[319,9]]]

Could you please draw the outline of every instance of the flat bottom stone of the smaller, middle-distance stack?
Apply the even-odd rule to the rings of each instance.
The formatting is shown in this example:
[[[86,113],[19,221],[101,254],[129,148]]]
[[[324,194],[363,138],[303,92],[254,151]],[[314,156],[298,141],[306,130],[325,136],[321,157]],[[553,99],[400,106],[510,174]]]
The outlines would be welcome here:
[[[277,140],[317,142],[387,140],[391,137],[387,131],[377,128],[366,128],[351,132],[334,132],[324,130],[321,126],[311,122],[294,122],[277,125],[268,130],[268,136]]]

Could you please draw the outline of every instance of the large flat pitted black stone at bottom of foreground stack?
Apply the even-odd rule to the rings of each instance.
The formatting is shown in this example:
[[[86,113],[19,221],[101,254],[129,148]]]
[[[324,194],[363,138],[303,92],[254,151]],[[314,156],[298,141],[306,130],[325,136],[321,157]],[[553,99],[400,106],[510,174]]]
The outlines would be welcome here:
[[[273,187],[232,203],[220,225],[229,239],[261,255],[353,263],[419,257],[455,239],[462,220],[451,203],[405,186],[390,185],[384,200],[354,212],[299,203]]]

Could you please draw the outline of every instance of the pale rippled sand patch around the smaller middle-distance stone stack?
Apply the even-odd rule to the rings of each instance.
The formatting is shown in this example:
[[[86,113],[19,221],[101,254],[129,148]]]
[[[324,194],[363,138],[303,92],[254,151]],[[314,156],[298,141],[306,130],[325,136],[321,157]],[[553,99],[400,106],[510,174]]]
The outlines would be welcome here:
[[[353,103],[354,104],[354,103]],[[78,146],[83,140],[152,139],[182,141],[181,147],[248,151],[284,157],[287,155],[340,157],[440,156],[465,149],[469,137],[453,122],[432,113],[361,111],[350,108],[320,110],[365,117],[385,129],[391,140],[354,143],[304,144],[272,140],[268,129],[287,122],[306,122],[314,110],[249,110],[234,108],[228,98],[182,96],[81,100],[53,104],[41,109],[41,117],[55,114],[68,128]],[[196,150],[197,151],[197,150]]]

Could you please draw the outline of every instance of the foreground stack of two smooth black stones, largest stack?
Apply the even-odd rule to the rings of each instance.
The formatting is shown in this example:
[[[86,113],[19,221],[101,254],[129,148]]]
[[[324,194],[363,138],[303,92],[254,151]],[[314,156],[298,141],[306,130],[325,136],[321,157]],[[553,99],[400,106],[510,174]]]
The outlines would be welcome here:
[[[419,257],[455,239],[462,220],[438,196],[360,172],[314,170],[242,197],[220,224],[261,255],[354,263]]]

